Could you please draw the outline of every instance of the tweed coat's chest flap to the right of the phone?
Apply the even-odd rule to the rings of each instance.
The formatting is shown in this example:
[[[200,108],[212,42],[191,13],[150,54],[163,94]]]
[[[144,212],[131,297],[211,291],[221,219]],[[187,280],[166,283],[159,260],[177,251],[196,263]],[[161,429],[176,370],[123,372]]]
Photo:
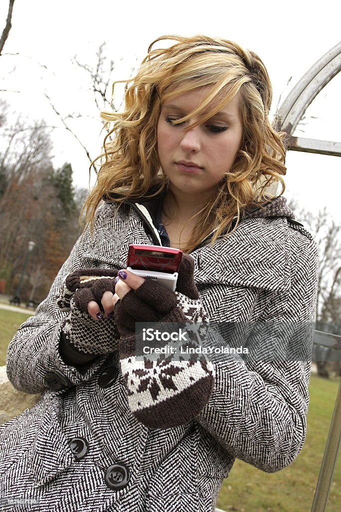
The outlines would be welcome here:
[[[232,233],[192,253],[195,280],[267,290],[291,285],[290,227],[285,218],[246,219]]]

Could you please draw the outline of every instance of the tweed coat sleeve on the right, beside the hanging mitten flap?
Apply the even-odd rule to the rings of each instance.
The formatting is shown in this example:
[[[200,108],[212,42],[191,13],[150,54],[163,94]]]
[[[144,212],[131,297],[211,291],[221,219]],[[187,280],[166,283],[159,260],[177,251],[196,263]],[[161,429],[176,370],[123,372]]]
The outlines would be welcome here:
[[[291,236],[290,289],[271,296],[260,321],[313,326],[317,247],[303,233],[292,230]],[[312,332],[310,328],[310,348]],[[214,364],[213,394],[196,421],[233,456],[269,473],[279,471],[305,440],[310,366],[309,360],[220,357]]]

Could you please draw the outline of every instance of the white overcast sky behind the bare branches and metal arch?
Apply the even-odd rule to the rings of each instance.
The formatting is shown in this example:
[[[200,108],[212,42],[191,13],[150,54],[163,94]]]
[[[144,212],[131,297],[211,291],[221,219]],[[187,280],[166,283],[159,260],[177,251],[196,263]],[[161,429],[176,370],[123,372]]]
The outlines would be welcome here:
[[[5,25],[8,2],[0,2],[0,29]],[[62,126],[43,93],[53,99],[66,116],[80,113],[73,129],[92,153],[101,151],[101,123],[90,81],[71,59],[94,65],[99,45],[115,61],[113,79],[127,78],[147,52],[149,43],[164,34],[203,33],[237,41],[260,55],[274,87],[275,111],[294,84],[340,39],[341,9],[334,0],[318,7],[311,2],[275,4],[267,1],[230,2],[206,0],[160,0],[117,2],[115,0],[15,0],[12,30],[0,57],[3,92],[12,112],[29,118],[45,118],[52,131],[54,165],[72,163],[74,181],[88,184],[88,161],[81,146]],[[14,69],[15,68],[15,69]],[[290,79],[291,78],[291,79]],[[288,83],[289,82],[289,83]],[[340,77],[335,77],[308,109],[308,124],[297,135],[340,140]],[[117,104],[117,103],[116,103]],[[337,125],[336,125],[337,120]],[[317,211],[327,205],[335,220],[341,220],[339,189],[341,159],[289,152],[287,196],[300,206]],[[337,186],[338,185],[338,186]]]

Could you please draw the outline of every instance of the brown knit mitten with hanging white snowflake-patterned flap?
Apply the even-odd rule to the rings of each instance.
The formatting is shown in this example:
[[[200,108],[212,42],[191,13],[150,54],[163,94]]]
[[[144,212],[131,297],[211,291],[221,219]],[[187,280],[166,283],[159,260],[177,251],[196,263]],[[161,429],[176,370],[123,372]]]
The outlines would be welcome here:
[[[193,280],[192,259],[184,256],[180,286],[185,280],[190,296],[146,280],[137,290],[129,291],[114,309],[121,334],[120,364],[129,408],[150,429],[167,429],[193,420],[206,406],[213,390],[213,365],[203,354],[190,354],[187,360],[178,353],[157,360],[144,356],[141,360],[135,353],[135,322],[172,322],[189,327],[195,323],[201,326],[202,339],[206,317]],[[195,329],[188,333],[189,341],[184,344],[198,347],[198,333]]]

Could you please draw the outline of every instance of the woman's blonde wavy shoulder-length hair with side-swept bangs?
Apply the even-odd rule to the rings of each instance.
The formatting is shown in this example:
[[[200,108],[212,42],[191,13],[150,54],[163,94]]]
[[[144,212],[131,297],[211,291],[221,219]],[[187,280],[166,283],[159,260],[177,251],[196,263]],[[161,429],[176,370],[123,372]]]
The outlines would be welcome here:
[[[170,47],[155,48],[156,42],[176,41]],[[170,97],[197,87],[210,86],[195,111],[174,124],[196,118],[190,127],[214,116],[238,92],[243,138],[234,164],[217,185],[217,194],[195,216],[190,240],[181,247],[191,252],[213,230],[218,237],[234,230],[249,208],[274,196],[269,186],[281,183],[285,175],[284,133],[277,133],[269,121],[272,87],[262,60],[235,42],[195,35],[167,35],[152,42],[137,74],[126,83],[123,112],[101,112],[107,135],[104,139],[97,183],[88,195],[83,211],[93,225],[103,197],[122,203],[159,194],[167,186],[157,155],[156,129],[162,105]],[[113,92],[113,91],[112,91]],[[214,106],[213,106],[214,105]]]

